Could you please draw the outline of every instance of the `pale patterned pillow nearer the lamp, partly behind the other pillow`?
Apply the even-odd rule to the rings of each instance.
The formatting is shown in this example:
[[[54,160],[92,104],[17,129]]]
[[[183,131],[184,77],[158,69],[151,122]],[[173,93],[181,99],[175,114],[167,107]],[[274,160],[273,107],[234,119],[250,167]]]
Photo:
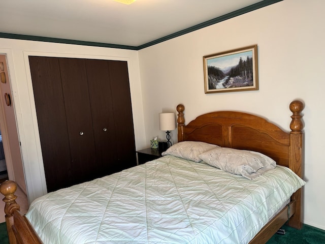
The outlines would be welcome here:
[[[194,162],[201,162],[199,155],[219,146],[202,141],[181,141],[164,151],[161,155],[172,155]]]

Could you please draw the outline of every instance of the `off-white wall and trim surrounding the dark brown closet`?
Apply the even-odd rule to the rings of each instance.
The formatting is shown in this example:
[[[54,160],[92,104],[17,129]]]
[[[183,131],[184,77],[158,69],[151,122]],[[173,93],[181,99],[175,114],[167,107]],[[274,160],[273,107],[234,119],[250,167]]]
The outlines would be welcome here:
[[[136,147],[138,149],[145,146],[137,51],[2,38],[0,38],[0,47],[0,52],[6,54],[8,60],[29,201],[44,195],[47,190],[28,55],[126,60]],[[55,106],[55,101],[53,101],[53,106]],[[51,129],[50,125],[49,129]]]

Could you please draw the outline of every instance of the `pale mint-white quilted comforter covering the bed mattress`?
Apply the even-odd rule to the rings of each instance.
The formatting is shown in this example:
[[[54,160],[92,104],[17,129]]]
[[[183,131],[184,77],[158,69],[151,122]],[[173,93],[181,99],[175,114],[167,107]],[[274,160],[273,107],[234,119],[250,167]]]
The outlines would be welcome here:
[[[248,243],[305,182],[254,180],[164,156],[44,195],[26,214],[44,243]]]

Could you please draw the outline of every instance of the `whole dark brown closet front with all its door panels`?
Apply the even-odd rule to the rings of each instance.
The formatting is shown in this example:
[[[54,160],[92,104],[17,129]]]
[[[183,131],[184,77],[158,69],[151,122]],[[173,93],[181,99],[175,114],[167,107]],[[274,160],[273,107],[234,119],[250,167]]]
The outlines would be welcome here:
[[[29,56],[48,192],[135,166],[127,62]]]

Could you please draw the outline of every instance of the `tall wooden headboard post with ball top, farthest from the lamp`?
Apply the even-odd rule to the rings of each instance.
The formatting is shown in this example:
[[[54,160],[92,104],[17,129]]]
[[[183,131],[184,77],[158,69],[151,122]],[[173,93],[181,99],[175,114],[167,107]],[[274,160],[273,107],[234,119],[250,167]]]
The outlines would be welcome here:
[[[290,103],[291,115],[290,123],[290,158],[289,168],[292,169],[299,177],[303,178],[304,164],[304,124],[302,121],[301,112],[304,109],[304,104],[301,101],[293,101]],[[303,225],[303,187],[299,189],[291,200],[296,200],[296,213],[290,218],[288,225],[297,229],[301,229]]]

